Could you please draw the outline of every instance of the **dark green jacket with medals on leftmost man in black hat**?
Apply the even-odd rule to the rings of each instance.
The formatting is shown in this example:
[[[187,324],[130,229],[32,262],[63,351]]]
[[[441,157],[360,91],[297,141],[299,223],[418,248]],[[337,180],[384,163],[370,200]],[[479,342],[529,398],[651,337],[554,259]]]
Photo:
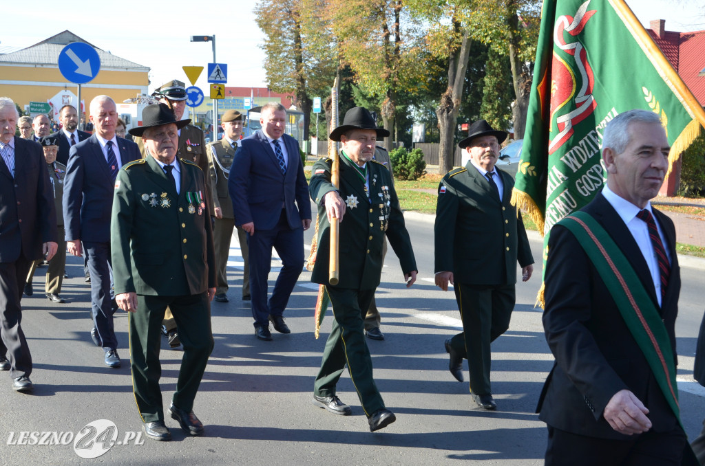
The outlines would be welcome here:
[[[190,160],[180,162],[180,194],[152,156],[118,172],[111,221],[115,294],[181,296],[216,286],[209,206],[193,200],[193,193],[205,195],[205,177]]]

